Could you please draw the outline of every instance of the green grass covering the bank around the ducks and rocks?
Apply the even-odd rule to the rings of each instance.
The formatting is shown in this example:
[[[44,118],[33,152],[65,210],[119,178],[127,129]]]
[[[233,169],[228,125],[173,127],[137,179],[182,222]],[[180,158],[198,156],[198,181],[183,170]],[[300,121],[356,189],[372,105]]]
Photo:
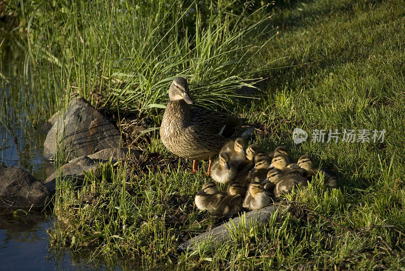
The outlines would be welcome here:
[[[43,33],[36,29],[31,44],[38,63],[53,68],[44,85],[59,89],[66,95],[62,98],[77,94],[92,99],[90,92],[99,92],[107,101],[99,107],[140,112],[153,127],[163,110],[147,107],[164,104],[170,79],[183,74],[198,104],[222,106],[263,123],[265,132],[257,131],[253,143],[265,150],[285,145],[294,159],[312,154],[335,172],[338,188],[326,189],[320,177],[308,189],[288,195],[282,205],[293,207],[281,206],[267,225],[240,228],[232,243],[213,250],[201,246],[179,255],[175,247],[181,241],[213,224],[209,214],[193,205],[206,179],[191,175],[186,169],[190,161],[172,156],[155,132],[144,158],[103,165],[89,173],[79,190],[61,182],[55,207],[61,221],[51,234],[52,244],[78,253],[89,248],[94,257],[134,257],[147,269],[404,269],[405,5],[284,1],[241,12],[228,3],[219,14],[240,17],[225,19],[201,9],[198,19],[185,15],[189,5],[172,5],[168,12],[166,3],[153,3],[137,9],[124,2],[113,11],[101,3],[92,6],[95,11],[88,17],[84,14],[91,5],[55,4],[57,23],[43,27]],[[120,15],[119,8],[128,13]],[[45,24],[35,18],[38,26]],[[100,22],[100,28],[88,27]],[[252,27],[263,34],[253,35]],[[275,31],[279,34],[273,37]],[[79,33],[85,33],[88,44]],[[223,39],[210,41],[214,36]],[[145,46],[139,48],[141,41]],[[47,49],[50,43],[56,45]],[[232,62],[240,57],[240,63]],[[164,65],[169,58],[173,65]],[[266,78],[257,93],[260,99],[238,102],[222,95],[223,89],[232,95],[236,86],[260,77]],[[49,102],[50,108],[55,104]],[[351,128],[387,132],[383,144],[308,140],[295,145],[295,127],[309,133]],[[92,196],[89,202],[85,195]]]

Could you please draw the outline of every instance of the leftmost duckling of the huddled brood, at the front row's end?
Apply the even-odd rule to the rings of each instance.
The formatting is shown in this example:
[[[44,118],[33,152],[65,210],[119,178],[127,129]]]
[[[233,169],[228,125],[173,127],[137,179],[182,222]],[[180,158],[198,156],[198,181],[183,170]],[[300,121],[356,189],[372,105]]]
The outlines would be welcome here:
[[[219,202],[226,195],[218,191],[214,182],[205,183],[203,189],[195,196],[195,205],[200,210],[215,211]]]

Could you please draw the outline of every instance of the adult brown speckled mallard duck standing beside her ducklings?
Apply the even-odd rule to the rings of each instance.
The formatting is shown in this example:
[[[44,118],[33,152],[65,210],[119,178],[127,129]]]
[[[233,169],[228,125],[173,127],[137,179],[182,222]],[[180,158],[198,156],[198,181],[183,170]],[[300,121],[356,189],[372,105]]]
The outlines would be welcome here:
[[[218,155],[221,147],[229,141],[235,130],[246,119],[225,113],[190,107],[194,100],[189,95],[187,80],[176,77],[169,88],[170,101],[160,125],[160,138],[172,153],[195,160],[210,160]]]

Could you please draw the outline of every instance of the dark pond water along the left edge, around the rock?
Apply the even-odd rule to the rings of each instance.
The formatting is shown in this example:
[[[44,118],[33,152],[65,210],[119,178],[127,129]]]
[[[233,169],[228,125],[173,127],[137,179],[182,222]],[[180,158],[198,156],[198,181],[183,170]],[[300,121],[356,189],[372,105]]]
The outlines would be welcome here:
[[[4,95],[7,92],[0,86],[0,101]],[[0,108],[10,110],[4,102]],[[24,116],[10,115],[0,113],[0,164],[19,166],[39,180],[46,179],[53,169],[42,157],[46,134],[28,125]],[[47,230],[53,226],[54,219],[44,213],[13,215],[0,211],[0,270],[122,269],[119,263],[106,264],[102,259],[89,263],[82,253],[51,248]]]

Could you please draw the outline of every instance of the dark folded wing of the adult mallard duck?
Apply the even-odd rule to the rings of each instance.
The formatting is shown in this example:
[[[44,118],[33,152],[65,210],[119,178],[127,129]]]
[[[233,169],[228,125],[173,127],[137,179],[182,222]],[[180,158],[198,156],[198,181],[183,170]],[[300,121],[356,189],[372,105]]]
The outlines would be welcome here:
[[[209,134],[230,138],[235,130],[247,121],[226,113],[191,107],[191,124],[205,129]]]

